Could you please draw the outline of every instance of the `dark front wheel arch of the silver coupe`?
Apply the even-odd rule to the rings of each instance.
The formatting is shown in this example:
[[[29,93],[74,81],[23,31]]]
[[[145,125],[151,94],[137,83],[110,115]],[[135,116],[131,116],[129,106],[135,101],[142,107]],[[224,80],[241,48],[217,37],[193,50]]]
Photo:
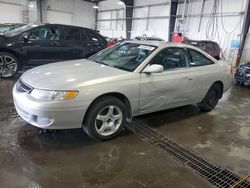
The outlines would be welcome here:
[[[86,113],[85,113],[85,115],[84,115],[84,117],[83,117],[83,123],[84,123],[84,120],[86,119],[86,116],[87,116],[87,114],[89,113],[91,107],[94,105],[94,103],[95,103],[96,101],[100,100],[101,98],[103,98],[103,97],[108,97],[108,96],[116,97],[117,99],[121,100],[121,101],[124,103],[124,105],[126,106],[126,108],[128,109],[128,118],[129,118],[129,119],[132,118],[132,108],[131,108],[131,104],[130,104],[128,98],[127,98],[124,94],[122,94],[122,93],[119,93],[119,92],[110,92],[110,93],[104,93],[104,94],[102,94],[102,95],[96,97],[96,98],[90,103],[90,105],[88,106],[87,111],[86,111]]]

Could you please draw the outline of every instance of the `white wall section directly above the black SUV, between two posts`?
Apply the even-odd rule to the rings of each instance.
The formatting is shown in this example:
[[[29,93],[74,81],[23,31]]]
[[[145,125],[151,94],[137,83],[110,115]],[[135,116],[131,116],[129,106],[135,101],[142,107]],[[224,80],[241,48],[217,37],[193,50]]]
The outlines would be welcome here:
[[[94,29],[95,10],[92,6],[93,3],[82,0],[47,0],[45,22]]]

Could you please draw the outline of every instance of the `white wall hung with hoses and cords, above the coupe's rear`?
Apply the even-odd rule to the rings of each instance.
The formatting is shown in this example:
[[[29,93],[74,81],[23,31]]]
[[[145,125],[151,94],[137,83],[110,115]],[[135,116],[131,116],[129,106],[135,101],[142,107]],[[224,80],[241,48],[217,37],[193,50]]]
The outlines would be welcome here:
[[[214,19],[210,16],[213,9],[213,2],[212,0],[205,1],[204,16],[201,20],[200,30],[199,15],[201,14],[202,1],[198,0],[186,6],[185,15],[187,19],[184,19],[183,24],[177,20],[176,30],[179,26],[179,30],[189,39],[213,40],[218,42],[222,48],[225,59],[229,61],[229,63],[234,64],[238,49],[231,48],[231,42],[232,40],[240,40],[244,21],[244,16],[241,15],[240,12],[245,11],[247,0],[219,0],[220,3],[217,7],[218,16]],[[183,14],[183,8],[184,4],[178,7],[179,15]]]

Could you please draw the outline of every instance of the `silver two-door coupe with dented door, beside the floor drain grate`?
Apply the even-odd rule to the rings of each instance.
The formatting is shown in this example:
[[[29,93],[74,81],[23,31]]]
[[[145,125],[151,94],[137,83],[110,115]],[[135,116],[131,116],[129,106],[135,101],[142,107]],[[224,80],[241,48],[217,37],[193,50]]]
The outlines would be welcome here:
[[[36,127],[83,128],[107,140],[141,114],[187,104],[210,111],[231,82],[228,64],[196,47],[124,42],[89,59],[28,70],[13,98],[18,114]]]

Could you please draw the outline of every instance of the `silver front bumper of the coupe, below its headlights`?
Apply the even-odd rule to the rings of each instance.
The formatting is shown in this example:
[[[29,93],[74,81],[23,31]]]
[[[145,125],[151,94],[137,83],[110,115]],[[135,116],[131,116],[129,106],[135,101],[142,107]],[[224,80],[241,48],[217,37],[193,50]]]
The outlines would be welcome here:
[[[39,101],[13,88],[17,113],[29,124],[43,129],[81,128],[86,108],[74,106],[74,100]]]

